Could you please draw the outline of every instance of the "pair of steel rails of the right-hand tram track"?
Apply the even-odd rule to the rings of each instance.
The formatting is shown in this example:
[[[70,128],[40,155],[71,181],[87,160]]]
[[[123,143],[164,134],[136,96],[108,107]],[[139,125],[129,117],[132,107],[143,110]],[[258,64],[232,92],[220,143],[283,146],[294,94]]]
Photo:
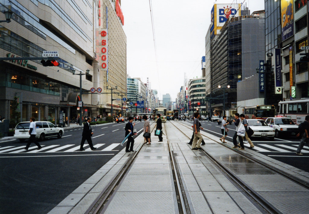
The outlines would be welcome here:
[[[180,122],[176,122],[177,124],[180,124],[186,128],[192,129],[192,127],[189,127],[188,125],[184,125]],[[180,128],[179,126],[175,125],[174,123],[172,123],[183,135],[187,136],[188,139],[191,139],[190,136],[186,135]],[[201,133],[202,134],[202,133]],[[203,135],[203,134],[202,134]],[[203,135],[204,137],[207,137],[205,135]],[[209,137],[207,137],[208,139],[211,139]],[[213,139],[211,139],[213,140]],[[215,141],[217,142],[217,141]],[[219,142],[217,142],[219,143]],[[288,173],[282,172],[281,170],[271,167],[268,164],[265,164],[263,162],[261,162],[260,160],[256,160],[255,158],[250,157],[249,155],[243,154],[235,149],[232,149],[231,147],[225,145],[225,144],[221,144],[222,146],[225,146],[237,153],[239,153],[242,156],[245,156],[246,158],[250,159],[251,161],[257,163],[257,164],[261,164],[264,167],[268,168],[269,170],[272,170],[273,172],[276,172],[277,174],[284,176],[286,178],[288,178],[289,180],[295,182],[296,184],[303,186],[307,189],[309,189],[309,184],[303,180],[300,180]],[[227,176],[231,182],[233,182],[236,186],[238,186],[245,194],[246,197],[252,201],[253,204],[255,204],[255,206],[259,209],[262,209],[264,212],[266,213],[282,213],[280,212],[277,208],[275,208],[272,204],[269,203],[269,201],[265,200],[262,196],[260,196],[260,194],[258,194],[256,191],[254,191],[254,189],[252,189],[250,187],[250,185],[248,185],[247,183],[245,183],[243,180],[241,180],[237,175],[235,175],[233,172],[231,172],[230,169],[228,169],[226,166],[224,166],[222,163],[220,163],[220,161],[218,161],[216,158],[214,158],[212,155],[210,155],[207,151],[205,151],[204,149],[201,149],[200,151],[202,151],[205,156],[207,157],[207,159],[209,159],[211,161],[212,164],[214,164],[222,173],[225,174],[225,176]]]

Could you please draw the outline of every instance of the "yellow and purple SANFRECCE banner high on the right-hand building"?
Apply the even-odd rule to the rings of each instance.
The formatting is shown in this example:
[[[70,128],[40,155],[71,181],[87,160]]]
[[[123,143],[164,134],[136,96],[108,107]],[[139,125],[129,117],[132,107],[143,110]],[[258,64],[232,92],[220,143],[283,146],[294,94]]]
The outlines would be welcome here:
[[[281,40],[294,35],[293,0],[281,0]]]

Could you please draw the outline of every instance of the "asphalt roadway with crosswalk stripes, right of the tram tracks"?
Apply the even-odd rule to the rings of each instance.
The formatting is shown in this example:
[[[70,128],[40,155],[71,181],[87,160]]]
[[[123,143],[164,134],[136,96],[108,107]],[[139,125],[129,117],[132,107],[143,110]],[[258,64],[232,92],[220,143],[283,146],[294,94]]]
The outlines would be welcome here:
[[[186,124],[193,125],[193,121],[181,122]],[[217,122],[208,122],[201,121],[202,127],[204,130],[210,134],[213,134],[218,137],[222,137],[221,134],[221,125],[218,125]],[[228,125],[228,135],[226,137],[227,141],[233,142],[233,135],[236,131],[235,125]],[[272,157],[273,159],[279,160],[283,163],[290,164],[296,168],[309,172],[309,149],[307,146],[304,146],[302,153],[304,155],[296,155],[296,150],[298,147],[299,139],[295,137],[282,138],[271,141],[269,138],[252,138],[252,143],[255,145],[253,150],[260,152],[263,155]],[[245,147],[249,148],[249,143],[245,143]]]

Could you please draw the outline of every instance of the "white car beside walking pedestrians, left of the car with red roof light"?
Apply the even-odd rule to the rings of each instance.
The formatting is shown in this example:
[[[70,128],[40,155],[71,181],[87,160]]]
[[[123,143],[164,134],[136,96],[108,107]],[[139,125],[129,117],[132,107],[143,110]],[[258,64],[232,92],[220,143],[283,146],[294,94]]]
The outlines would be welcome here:
[[[247,119],[248,126],[254,131],[252,137],[269,137],[274,140],[275,130],[262,119]]]

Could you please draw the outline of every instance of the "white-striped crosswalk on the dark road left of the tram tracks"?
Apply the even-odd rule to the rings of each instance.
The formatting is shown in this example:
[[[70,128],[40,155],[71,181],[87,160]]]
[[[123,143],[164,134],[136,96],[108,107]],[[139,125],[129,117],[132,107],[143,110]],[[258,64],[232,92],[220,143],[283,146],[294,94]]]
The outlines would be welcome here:
[[[97,149],[94,151],[118,151],[115,150],[117,146],[120,145],[120,143],[112,143],[111,145],[106,145],[105,143],[97,143],[94,145]],[[0,147],[0,153],[7,154],[7,153],[52,153],[52,152],[77,152],[80,149],[80,145],[76,146],[76,144],[68,144],[68,145],[41,145],[42,148],[40,150],[37,150],[37,146],[29,147],[26,151],[24,149],[26,145],[24,146],[6,146],[6,147]],[[91,151],[91,148],[88,144],[84,145],[85,151]]]

